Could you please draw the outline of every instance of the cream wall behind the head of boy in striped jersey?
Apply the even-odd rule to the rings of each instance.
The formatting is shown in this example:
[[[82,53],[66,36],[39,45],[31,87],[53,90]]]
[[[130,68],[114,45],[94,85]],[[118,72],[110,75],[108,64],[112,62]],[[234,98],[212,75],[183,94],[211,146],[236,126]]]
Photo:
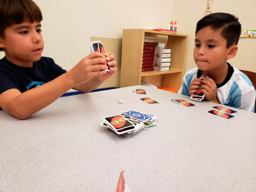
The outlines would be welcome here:
[[[196,23],[204,16],[206,0],[173,0],[172,20],[178,22],[178,33],[187,34],[188,47],[184,74],[196,67],[193,59]],[[236,15],[242,30],[256,30],[256,1],[213,0],[212,13],[226,12]],[[240,38],[237,55],[228,62],[241,70],[256,72],[256,38]]]

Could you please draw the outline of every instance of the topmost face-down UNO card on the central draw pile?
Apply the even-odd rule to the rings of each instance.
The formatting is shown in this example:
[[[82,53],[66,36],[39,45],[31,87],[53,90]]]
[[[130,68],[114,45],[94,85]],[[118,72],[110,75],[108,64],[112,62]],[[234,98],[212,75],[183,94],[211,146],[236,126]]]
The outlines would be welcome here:
[[[134,125],[122,115],[114,115],[103,118],[104,123],[110,125],[115,131],[133,127]]]

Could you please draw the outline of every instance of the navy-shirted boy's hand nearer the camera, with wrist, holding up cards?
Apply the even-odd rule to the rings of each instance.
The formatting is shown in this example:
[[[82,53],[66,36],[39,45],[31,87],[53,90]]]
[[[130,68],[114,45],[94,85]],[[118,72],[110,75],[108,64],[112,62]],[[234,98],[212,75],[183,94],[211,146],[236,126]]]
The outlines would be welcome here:
[[[106,59],[98,52],[94,52],[83,58],[69,73],[75,85],[85,83],[94,77],[106,74],[108,67],[102,65]]]

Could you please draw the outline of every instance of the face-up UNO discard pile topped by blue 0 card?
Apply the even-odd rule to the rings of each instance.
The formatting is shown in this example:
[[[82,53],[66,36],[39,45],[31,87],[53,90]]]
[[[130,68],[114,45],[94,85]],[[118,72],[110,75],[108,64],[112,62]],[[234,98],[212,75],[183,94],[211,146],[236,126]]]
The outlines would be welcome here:
[[[144,124],[144,130],[158,126],[158,124],[154,122],[157,119],[157,117],[152,114],[143,113],[142,111],[137,110],[130,110],[122,112],[122,115],[128,118],[129,120],[131,119],[142,122]]]

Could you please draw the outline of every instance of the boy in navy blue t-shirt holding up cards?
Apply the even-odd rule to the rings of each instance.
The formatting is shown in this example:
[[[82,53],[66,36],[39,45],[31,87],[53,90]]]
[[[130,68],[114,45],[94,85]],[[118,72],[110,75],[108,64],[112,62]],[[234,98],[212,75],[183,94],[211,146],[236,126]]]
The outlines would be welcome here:
[[[0,107],[26,119],[73,88],[90,92],[116,71],[114,56],[91,53],[70,71],[41,57],[42,13],[32,0],[0,0]],[[107,72],[106,63],[110,66]]]

